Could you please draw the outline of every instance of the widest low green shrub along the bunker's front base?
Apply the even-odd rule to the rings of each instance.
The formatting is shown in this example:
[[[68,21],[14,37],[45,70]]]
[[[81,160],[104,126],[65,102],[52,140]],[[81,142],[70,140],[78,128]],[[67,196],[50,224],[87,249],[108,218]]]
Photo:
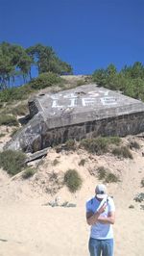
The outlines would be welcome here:
[[[108,152],[108,146],[110,144],[118,145],[121,139],[118,137],[98,137],[94,139],[84,139],[80,142],[80,146],[83,146],[90,153],[96,153],[98,155]]]

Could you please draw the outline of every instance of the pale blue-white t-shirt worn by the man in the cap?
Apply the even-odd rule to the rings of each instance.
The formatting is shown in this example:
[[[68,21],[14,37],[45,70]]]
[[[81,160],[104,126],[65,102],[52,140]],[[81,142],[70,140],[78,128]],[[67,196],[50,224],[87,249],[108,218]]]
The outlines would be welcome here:
[[[92,212],[94,214],[99,208],[100,204],[101,204],[101,201],[99,201],[96,197],[91,198],[86,202],[86,213]],[[108,196],[106,210],[100,216],[108,217],[109,212],[115,212],[115,206],[114,206],[113,199]],[[113,238],[112,225],[96,222],[96,224],[93,224],[91,226],[90,237],[93,239],[100,239],[100,240],[112,239]]]

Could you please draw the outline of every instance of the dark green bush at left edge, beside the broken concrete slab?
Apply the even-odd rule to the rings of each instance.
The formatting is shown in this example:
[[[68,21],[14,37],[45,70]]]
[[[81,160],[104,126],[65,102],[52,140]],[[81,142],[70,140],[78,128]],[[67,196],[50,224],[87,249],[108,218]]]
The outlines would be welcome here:
[[[6,150],[0,153],[0,167],[15,175],[25,166],[26,155],[19,151]]]

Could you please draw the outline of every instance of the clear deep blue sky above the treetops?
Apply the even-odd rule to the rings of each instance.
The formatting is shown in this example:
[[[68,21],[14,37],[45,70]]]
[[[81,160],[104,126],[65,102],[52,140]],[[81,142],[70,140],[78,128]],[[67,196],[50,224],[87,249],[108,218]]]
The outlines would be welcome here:
[[[144,64],[144,0],[0,0],[0,41],[40,42],[75,74]]]

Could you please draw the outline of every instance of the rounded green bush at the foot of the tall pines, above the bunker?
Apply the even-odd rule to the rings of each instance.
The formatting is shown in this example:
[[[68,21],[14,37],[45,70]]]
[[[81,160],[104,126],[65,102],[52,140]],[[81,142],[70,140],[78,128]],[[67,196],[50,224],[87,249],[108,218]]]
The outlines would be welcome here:
[[[47,87],[52,87],[61,84],[63,80],[55,73],[47,72],[40,74],[37,78],[33,79],[29,85],[33,90],[41,90]]]

